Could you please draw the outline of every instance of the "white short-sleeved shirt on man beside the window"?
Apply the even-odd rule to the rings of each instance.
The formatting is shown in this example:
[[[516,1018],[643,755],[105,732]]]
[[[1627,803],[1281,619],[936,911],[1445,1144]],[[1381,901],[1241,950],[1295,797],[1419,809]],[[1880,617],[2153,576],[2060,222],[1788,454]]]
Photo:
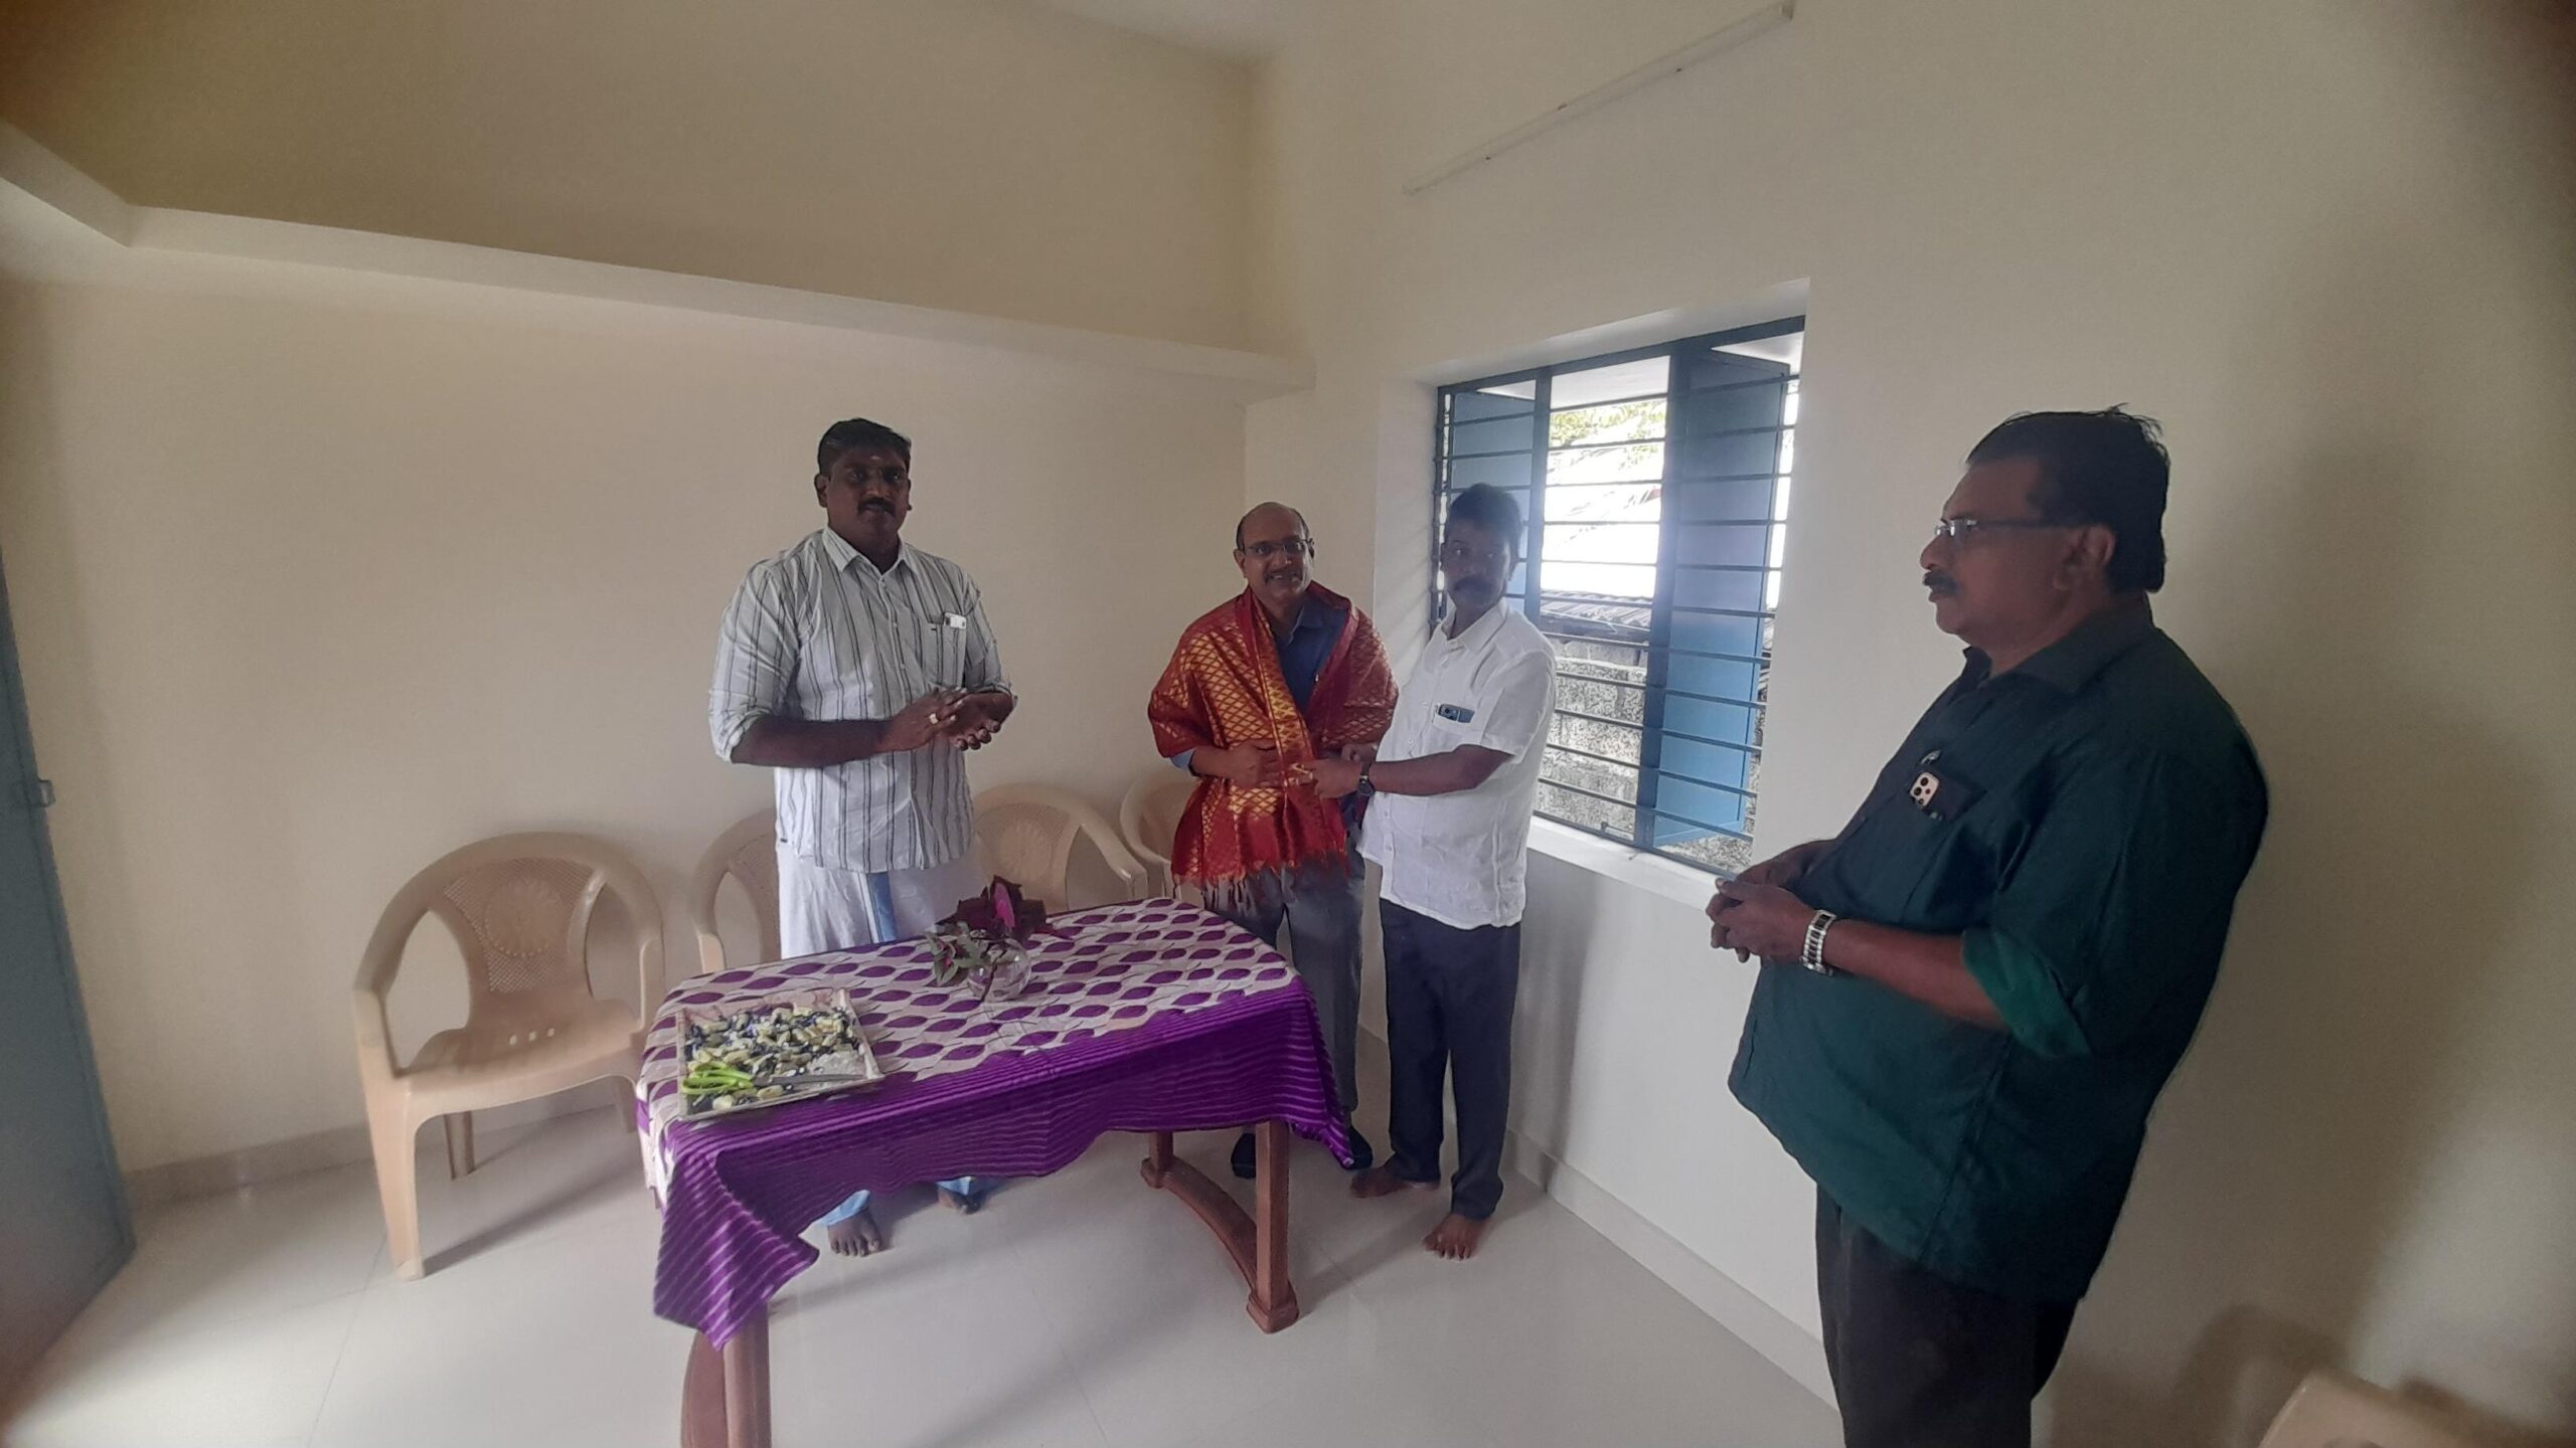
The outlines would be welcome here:
[[[1476,930],[1517,925],[1530,858],[1530,809],[1556,709],[1556,654],[1528,616],[1497,603],[1466,634],[1432,634],[1396,693],[1381,760],[1479,745],[1512,755],[1461,794],[1378,794],[1360,853],[1383,871],[1378,897]]]

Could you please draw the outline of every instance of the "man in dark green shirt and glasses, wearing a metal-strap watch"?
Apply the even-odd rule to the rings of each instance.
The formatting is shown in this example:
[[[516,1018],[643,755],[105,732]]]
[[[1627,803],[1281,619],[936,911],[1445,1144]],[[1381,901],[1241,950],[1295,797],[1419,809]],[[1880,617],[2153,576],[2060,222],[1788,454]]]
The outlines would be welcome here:
[[[1989,433],[1924,546],[1968,667],[1834,840],[1708,902],[1762,958],[1731,1087],[1816,1177],[1852,1448],[2030,1443],[2264,827],[2166,639],[2166,453],[2120,410]]]

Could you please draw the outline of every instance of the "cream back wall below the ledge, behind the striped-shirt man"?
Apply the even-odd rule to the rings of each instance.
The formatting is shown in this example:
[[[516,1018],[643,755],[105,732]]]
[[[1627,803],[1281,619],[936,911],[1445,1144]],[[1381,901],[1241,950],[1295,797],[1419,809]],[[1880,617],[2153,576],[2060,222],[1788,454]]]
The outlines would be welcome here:
[[[533,312],[533,307],[531,307]],[[706,737],[716,618],[822,523],[814,438],[917,441],[907,538],[984,587],[1023,711],[979,786],[1115,806],[1226,590],[1242,407],[799,327],[0,289],[0,557],[126,1170],[361,1118],[348,984],[443,850],[567,827],[680,881],[768,799]],[[461,1010],[435,928],[397,1033]],[[595,951],[634,995],[631,956]]]

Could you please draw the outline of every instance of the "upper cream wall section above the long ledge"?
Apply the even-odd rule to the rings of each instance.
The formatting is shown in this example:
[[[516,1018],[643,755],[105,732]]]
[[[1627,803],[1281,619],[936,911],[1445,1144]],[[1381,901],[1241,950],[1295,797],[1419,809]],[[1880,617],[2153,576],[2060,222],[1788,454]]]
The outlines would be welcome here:
[[[1249,88],[1018,0],[0,13],[0,116],[137,206],[1218,345]]]

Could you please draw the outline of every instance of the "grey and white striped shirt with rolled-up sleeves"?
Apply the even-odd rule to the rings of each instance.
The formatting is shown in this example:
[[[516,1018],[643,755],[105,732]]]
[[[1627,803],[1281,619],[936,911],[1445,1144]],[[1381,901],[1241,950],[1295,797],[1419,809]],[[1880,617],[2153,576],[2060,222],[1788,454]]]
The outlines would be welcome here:
[[[819,528],[734,593],[706,724],[732,760],[755,719],[891,719],[933,688],[1010,688],[974,580],[909,544],[878,572]],[[974,848],[966,760],[945,745],[775,776],[778,840],[817,866],[917,871]]]

